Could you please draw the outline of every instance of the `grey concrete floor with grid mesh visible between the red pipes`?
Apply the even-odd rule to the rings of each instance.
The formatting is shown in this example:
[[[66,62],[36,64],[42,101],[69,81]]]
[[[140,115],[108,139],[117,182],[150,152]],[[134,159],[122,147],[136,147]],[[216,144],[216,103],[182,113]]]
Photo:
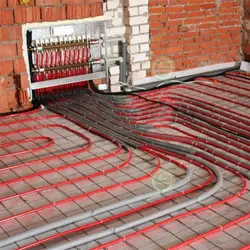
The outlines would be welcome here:
[[[190,86],[195,86],[195,85],[191,84]],[[220,86],[220,83],[217,83],[217,86]],[[221,87],[225,88],[225,86],[223,85],[221,85]],[[213,90],[207,88],[206,86],[201,86],[199,88],[201,90],[206,91],[207,93],[214,93]],[[173,91],[178,93],[183,93],[184,90],[173,90]],[[246,93],[246,91],[240,91],[240,90],[239,92]],[[216,91],[216,93],[221,96],[229,97],[234,100],[237,99],[241,102],[250,104],[249,99],[244,99],[237,95],[232,95],[224,91],[221,92]],[[216,103],[221,107],[227,107],[227,108],[231,107],[233,110],[239,113],[250,115],[250,110],[248,108],[236,105],[234,103],[221,101],[216,98],[204,95],[197,95],[197,93],[194,93],[191,90],[186,90],[185,94],[190,96],[195,96],[196,98],[201,98],[201,99],[206,98],[206,101]],[[1,118],[0,131],[3,134],[0,137],[1,144],[7,142],[15,142],[17,140],[22,140],[25,138],[40,137],[40,136],[51,137],[54,140],[54,144],[51,147],[44,148],[38,152],[26,152],[25,154],[20,154],[20,155],[15,154],[0,158],[1,169],[14,166],[17,164],[26,163],[26,165],[22,167],[16,167],[13,169],[7,169],[1,171],[0,172],[1,183],[19,177],[28,176],[41,171],[55,169],[67,164],[84,161],[86,159],[94,158],[96,156],[105,155],[117,149],[117,146],[111,143],[110,141],[105,140],[100,136],[94,135],[93,133],[90,133],[87,130],[84,130],[64,118],[60,117],[51,117],[44,119],[42,118],[43,116],[48,116],[48,115],[53,115],[53,113],[48,110],[41,110],[35,113],[25,114],[22,116]],[[30,119],[29,121],[23,121],[24,119],[28,118],[32,119]],[[11,122],[15,121],[20,121],[20,122],[11,124]],[[170,124],[169,122],[163,122],[163,123]],[[47,124],[60,124],[64,125],[65,128],[57,126],[54,127],[44,126]],[[176,123],[171,123],[171,125],[178,128],[182,128],[187,132],[191,132],[193,134],[198,135],[199,137],[208,138],[203,134],[199,134],[196,131],[188,129],[182,125]],[[42,127],[36,128],[36,126],[42,126]],[[71,152],[72,150],[80,149],[87,145],[87,141],[85,139],[81,138],[78,134],[75,134],[72,131],[68,131],[66,127],[74,129],[77,132],[80,132],[85,136],[89,137],[93,142],[91,148],[85,152],[69,156],[55,157],[54,159],[46,161],[43,160],[44,157],[52,155],[56,156],[63,152]],[[9,134],[7,133],[26,128],[29,128],[29,130],[23,132],[9,133]],[[180,132],[176,132],[174,130],[166,128],[159,129],[159,131],[170,134],[182,135]],[[214,140],[214,138],[209,138],[209,139]],[[27,141],[19,143],[18,145],[12,145],[4,148],[1,147],[0,157],[1,155],[5,155],[10,152],[11,153],[19,152],[24,149],[29,150],[36,148],[38,146],[44,146],[46,145],[46,143],[48,143],[47,139],[37,139],[34,142]],[[225,146],[228,145],[225,144]],[[65,218],[67,216],[79,214],[83,211],[89,211],[113,202],[117,202],[119,200],[124,200],[126,198],[134,197],[135,195],[143,194],[154,190],[154,187],[152,185],[152,178],[148,177],[145,180],[139,181],[137,183],[108,189],[106,191],[102,191],[92,195],[87,195],[87,196],[84,195],[93,190],[98,190],[100,188],[107,187],[116,183],[145,176],[149,172],[153,171],[154,168],[156,167],[156,160],[151,155],[134,149],[132,149],[132,154],[133,154],[132,161],[127,166],[125,166],[120,170],[116,170],[112,173],[108,173],[105,175],[100,175],[98,177],[77,181],[71,184],[61,185],[56,188],[48,188],[43,191],[37,190],[38,188],[44,186],[71,180],[81,176],[90,175],[96,172],[102,172],[103,170],[107,170],[112,167],[117,167],[117,165],[122,164],[124,160],[128,158],[128,153],[122,149],[121,152],[119,152],[115,156],[110,157],[109,159],[103,159],[88,163],[83,162],[82,164],[79,164],[77,167],[72,166],[70,168],[65,168],[63,170],[60,169],[51,172],[49,174],[44,174],[42,176],[36,176],[30,179],[26,179],[25,181],[19,179],[19,181],[15,183],[9,185],[2,185],[0,188],[0,198],[20,194],[30,190],[36,190],[36,191],[28,195],[21,195],[20,197],[18,196],[16,198],[13,197],[5,201],[1,200],[2,202],[0,204],[0,239],[7,238],[8,236],[15,235],[20,232],[24,232],[28,229],[35,228],[39,225],[48,222],[56,221],[58,219]],[[174,159],[174,157],[172,158]],[[39,162],[35,164],[29,164],[29,162],[32,160],[39,160]],[[178,167],[177,165],[168,161],[163,161],[163,160],[161,161],[162,161],[162,168],[175,175],[176,180],[179,180],[184,176],[185,174],[184,170]],[[186,165],[194,169],[194,175],[192,177],[191,182],[187,186],[172,191],[167,195],[175,194],[183,190],[186,190],[187,188],[197,186],[203,183],[204,180],[207,179],[208,174],[205,170],[197,168],[195,165],[191,163]],[[241,179],[225,170],[221,171],[224,177],[223,187],[219,192],[217,192],[211,198],[207,199],[205,202],[196,204],[195,206],[192,207],[187,207],[186,209],[183,209],[177,213],[169,214],[168,216],[135,227],[131,230],[124,231],[119,235],[114,234],[112,236],[91,242],[84,246],[79,246],[74,249],[75,250],[91,249],[100,244],[109,242],[114,239],[118,239],[132,232],[136,232],[139,229],[145,228],[146,226],[150,226],[153,225],[154,223],[176,216],[177,214],[183,213],[185,211],[190,211],[194,208],[202,207],[204,205],[209,205],[211,203],[222,200],[231,195],[237,194],[242,189],[243,186]],[[248,180],[247,183],[249,183]],[[155,205],[151,208],[147,208],[139,212],[134,212],[129,216],[116,219],[114,221],[105,223],[103,225],[99,225],[93,228],[85,229],[78,233],[73,233],[71,235],[61,237],[60,239],[33,247],[31,249],[32,250],[46,249],[49,246],[56,245],[64,241],[68,240],[72,241],[79,237],[83,237],[84,235],[93,234],[105,230],[106,228],[115,227],[118,225],[122,225],[125,222],[137,220],[138,218],[152,214],[156,211],[162,210],[163,208],[170,207],[176,203],[180,203],[184,200],[191,199],[194,195],[204,192],[205,189],[197,191],[195,192],[195,194],[181,196],[171,201]],[[57,203],[59,201],[72,197],[73,199],[71,201],[59,204]],[[41,206],[46,206],[54,202],[55,202],[54,205],[52,204],[51,206],[48,206],[44,209],[40,209],[39,211],[30,213],[28,215],[25,216],[18,215],[23,212],[30,211],[32,209],[39,209]],[[140,202],[140,204],[133,204],[133,206],[131,207],[127,206],[123,207],[122,209],[112,210],[109,213],[105,213],[100,216],[95,216],[92,219],[89,219],[87,222],[90,223],[97,220],[102,220],[113,214],[129,210],[133,207],[137,207],[138,205],[144,205],[148,202],[150,201],[147,200]],[[223,226],[224,224],[228,223],[231,220],[234,220],[240,216],[248,214],[249,211],[250,211],[250,192],[249,189],[247,189],[247,192],[243,196],[238,197],[233,201],[230,201],[229,203],[225,203],[224,205],[213,207],[207,211],[195,213],[191,216],[175,220],[174,222],[171,223],[164,224],[154,230],[143,233],[142,235],[138,235],[131,239],[127,239],[121,243],[110,246],[108,247],[108,249],[124,249],[124,250],[125,249],[140,249],[140,250],[168,249],[170,247],[175,246],[178,243],[181,243],[182,241],[188,240],[194,236],[197,236],[211,229],[214,229],[215,227]],[[5,218],[12,216],[16,217],[10,218],[7,221],[3,221]],[[80,225],[83,225],[83,223],[86,223],[86,221],[68,225],[67,227],[64,228],[58,228],[57,232],[78,227]],[[50,231],[43,235],[39,235],[36,238],[23,240],[21,242],[17,242],[16,244],[7,246],[2,249],[4,250],[18,249],[31,242],[35,242],[38,239],[53,235],[55,233],[56,231]],[[182,247],[181,249],[235,250],[235,249],[240,249],[248,244],[250,244],[250,221],[245,220],[232,227],[229,227],[228,229],[223,229],[219,233],[207,236],[204,239],[198,240],[186,247]]]

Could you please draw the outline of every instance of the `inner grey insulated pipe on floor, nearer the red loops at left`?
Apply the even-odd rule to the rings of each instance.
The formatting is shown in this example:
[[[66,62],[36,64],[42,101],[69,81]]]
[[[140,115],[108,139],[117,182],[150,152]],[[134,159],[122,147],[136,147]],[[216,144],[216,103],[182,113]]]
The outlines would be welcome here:
[[[111,210],[114,210],[114,209],[117,209],[117,208],[121,208],[123,206],[128,206],[128,205],[131,205],[133,203],[137,203],[137,202],[140,202],[140,201],[143,201],[143,200],[147,200],[147,199],[153,198],[155,196],[158,196],[159,194],[166,194],[167,192],[170,192],[170,191],[172,191],[174,189],[180,188],[180,187],[186,185],[187,183],[189,183],[189,181],[191,180],[192,174],[193,174],[193,170],[192,169],[187,169],[186,175],[182,180],[170,185],[165,190],[163,189],[161,192],[153,191],[153,192],[149,192],[147,194],[137,195],[136,197],[133,197],[133,198],[130,198],[130,199],[126,199],[126,200],[123,200],[123,201],[120,201],[120,202],[113,203],[113,204],[108,205],[108,206],[104,206],[104,207],[101,207],[101,208],[86,212],[86,213],[74,215],[74,216],[71,216],[71,217],[67,217],[66,219],[58,220],[56,222],[43,225],[41,227],[26,231],[24,233],[11,236],[11,237],[9,237],[9,238],[7,238],[5,240],[1,240],[0,241],[0,247],[5,247],[5,246],[8,246],[8,245],[10,245],[12,243],[15,243],[15,242],[30,238],[32,236],[42,234],[44,232],[47,232],[47,231],[50,231],[50,230],[53,230],[53,229],[56,229],[56,228],[59,228],[59,227],[63,227],[63,226],[69,225],[69,224],[74,223],[74,222],[86,220],[88,218],[91,218],[92,216],[96,216],[96,215],[99,215],[99,214],[102,214],[102,213],[106,213],[108,211],[111,211]],[[152,176],[152,178],[154,178],[154,177]]]

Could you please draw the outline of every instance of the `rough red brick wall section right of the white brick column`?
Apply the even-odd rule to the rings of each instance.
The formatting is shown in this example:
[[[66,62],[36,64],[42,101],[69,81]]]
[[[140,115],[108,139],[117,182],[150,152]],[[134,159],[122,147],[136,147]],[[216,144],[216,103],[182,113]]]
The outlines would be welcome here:
[[[149,11],[148,75],[240,60],[241,1],[149,0]]]

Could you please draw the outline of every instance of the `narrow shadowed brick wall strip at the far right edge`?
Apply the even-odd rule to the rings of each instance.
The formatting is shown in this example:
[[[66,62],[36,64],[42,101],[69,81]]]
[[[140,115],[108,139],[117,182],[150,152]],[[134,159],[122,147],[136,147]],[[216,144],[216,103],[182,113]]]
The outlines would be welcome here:
[[[243,46],[242,52],[244,60],[250,61],[250,0],[244,2],[244,17],[243,17]]]

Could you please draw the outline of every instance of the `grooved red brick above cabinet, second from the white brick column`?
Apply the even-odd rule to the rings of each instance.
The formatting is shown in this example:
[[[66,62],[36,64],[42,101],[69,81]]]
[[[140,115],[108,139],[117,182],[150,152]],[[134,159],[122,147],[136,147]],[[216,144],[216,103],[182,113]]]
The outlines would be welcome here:
[[[81,19],[90,17],[89,4],[68,4],[67,5],[67,18],[68,19]]]

